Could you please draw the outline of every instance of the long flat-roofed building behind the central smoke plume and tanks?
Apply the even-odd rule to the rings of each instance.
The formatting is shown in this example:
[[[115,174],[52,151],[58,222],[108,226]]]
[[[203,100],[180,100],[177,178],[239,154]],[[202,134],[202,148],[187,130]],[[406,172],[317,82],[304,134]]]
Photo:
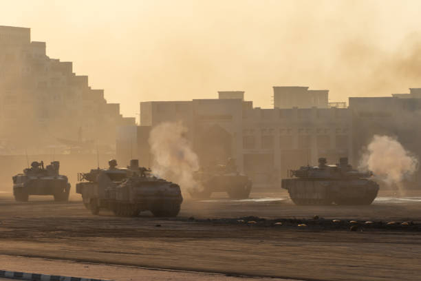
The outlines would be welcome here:
[[[151,165],[151,129],[181,122],[201,165],[225,163],[231,157],[254,183],[277,183],[274,175],[316,165],[319,157],[330,163],[352,157],[351,117],[346,108],[253,108],[252,101],[244,101],[244,92],[219,92],[215,99],[142,102],[140,127],[120,132],[117,155],[126,163],[136,143],[142,165]]]

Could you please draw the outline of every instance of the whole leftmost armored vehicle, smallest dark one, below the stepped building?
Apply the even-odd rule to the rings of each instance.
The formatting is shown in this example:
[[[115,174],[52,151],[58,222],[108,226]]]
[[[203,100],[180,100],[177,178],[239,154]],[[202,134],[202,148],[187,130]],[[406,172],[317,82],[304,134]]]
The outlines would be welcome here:
[[[32,162],[23,174],[12,177],[14,199],[26,202],[30,195],[52,195],[55,201],[69,200],[70,184],[67,176],[59,174],[59,169],[58,161],[45,168],[43,161]]]

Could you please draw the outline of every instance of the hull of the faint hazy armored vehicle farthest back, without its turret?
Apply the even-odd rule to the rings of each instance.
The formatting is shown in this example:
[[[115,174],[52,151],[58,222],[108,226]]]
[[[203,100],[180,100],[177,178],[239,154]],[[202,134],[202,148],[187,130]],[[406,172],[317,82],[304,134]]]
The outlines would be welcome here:
[[[210,198],[213,192],[226,192],[230,198],[248,198],[252,188],[247,176],[237,174],[202,176],[197,181],[200,188],[189,192],[192,198]]]

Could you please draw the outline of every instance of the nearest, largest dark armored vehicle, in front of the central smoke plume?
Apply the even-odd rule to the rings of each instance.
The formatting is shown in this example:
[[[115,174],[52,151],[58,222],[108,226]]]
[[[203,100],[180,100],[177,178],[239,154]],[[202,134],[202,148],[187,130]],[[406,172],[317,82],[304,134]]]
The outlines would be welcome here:
[[[177,184],[153,176],[151,170],[139,167],[136,159],[127,169],[116,166],[117,161],[110,160],[109,169],[78,174],[76,192],[92,214],[109,209],[117,216],[138,216],[140,211],[158,217],[177,216],[183,200]]]

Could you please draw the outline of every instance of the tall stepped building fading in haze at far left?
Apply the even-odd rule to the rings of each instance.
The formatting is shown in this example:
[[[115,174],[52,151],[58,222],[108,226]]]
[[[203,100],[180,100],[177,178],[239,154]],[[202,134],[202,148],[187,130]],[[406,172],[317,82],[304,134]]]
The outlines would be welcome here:
[[[134,125],[71,62],[50,59],[29,28],[0,26],[0,140],[49,147],[60,140],[114,147],[116,127]]]

